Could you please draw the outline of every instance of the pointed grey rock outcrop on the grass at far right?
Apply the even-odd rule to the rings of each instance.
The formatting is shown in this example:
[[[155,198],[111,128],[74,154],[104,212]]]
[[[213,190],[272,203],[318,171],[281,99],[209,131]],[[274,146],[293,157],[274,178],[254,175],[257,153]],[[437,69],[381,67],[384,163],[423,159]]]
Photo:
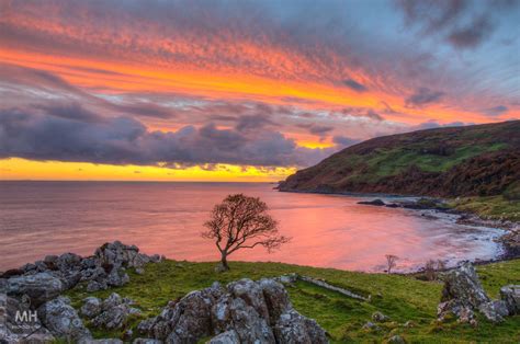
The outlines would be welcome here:
[[[490,300],[473,265],[464,263],[445,275],[438,317],[443,320],[448,313],[453,313],[460,322],[472,322],[475,311],[479,311],[493,322],[504,321],[504,317],[508,316],[506,302]]]

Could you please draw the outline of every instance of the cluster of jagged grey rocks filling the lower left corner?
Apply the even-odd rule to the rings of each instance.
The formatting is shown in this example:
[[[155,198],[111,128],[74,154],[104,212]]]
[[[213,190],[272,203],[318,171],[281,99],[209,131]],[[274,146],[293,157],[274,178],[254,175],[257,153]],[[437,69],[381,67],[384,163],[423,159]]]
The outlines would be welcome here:
[[[34,317],[36,322],[29,324],[31,332],[36,331],[31,335],[32,339],[56,337],[75,343],[121,343],[118,340],[92,341],[90,332],[69,305],[69,300],[60,294],[79,282],[88,284],[88,291],[122,286],[129,280],[127,268],[139,268],[143,272],[145,264],[160,260],[157,254],[148,256],[139,253],[135,245],[125,245],[120,241],[105,243],[89,257],[74,253],[47,255],[34,264],[25,264],[2,274],[0,291],[3,294],[0,293],[0,296],[5,296],[4,303],[9,300],[12,309],[23,301],[27,305],[27,311],[37,311],[37,317]],[[81,314],[92,319],[92,322],[101,328],[120,329],[129,314],[140,312],[131,305],[129,300],[122,299],[116,294],[102,302],[97,298],[87,298]],[[14,316],[11,318],[14,319]],[[5,331],[8,337],[15,341],[18,332],[11,329]]]

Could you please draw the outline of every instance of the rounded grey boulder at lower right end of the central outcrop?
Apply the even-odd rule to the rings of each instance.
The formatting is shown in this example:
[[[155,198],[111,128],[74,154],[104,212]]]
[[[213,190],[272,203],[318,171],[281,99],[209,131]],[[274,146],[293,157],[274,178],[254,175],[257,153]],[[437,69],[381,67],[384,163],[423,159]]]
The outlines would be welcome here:
[[[290,310],[280,316],[274,333],[279,343],[328,343],[325,331],[312,319]]]

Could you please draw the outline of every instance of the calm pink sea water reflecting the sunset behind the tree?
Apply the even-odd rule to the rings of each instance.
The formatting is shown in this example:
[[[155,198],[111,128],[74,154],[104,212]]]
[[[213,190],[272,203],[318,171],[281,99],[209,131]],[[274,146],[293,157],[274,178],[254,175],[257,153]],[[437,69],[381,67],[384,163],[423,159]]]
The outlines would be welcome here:
[[[358,205],[361,198],[279,193],[271,184],[0,182],[0,268],[46,254],[91,254],[121,240],[146,253],[176,260],[218,259],[201,238],[214,204],[230,193],[260,196],[280,221],[290,244],[268,254],[236,252],[231,260],[276,261],[359,271],[381,271],[385,254],[400,257],[398,270],[428,259],[488,260],[500,253],[501,231],[454,225],[442,216]]]

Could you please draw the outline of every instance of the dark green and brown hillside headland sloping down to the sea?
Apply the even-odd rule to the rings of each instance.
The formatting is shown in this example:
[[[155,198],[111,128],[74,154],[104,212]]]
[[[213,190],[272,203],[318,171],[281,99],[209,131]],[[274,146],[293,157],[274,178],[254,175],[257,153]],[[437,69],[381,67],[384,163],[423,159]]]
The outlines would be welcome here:
[[[280,190],[519,197],[518,181],[520,121],[511,121],[377,137],[298,171]]]

